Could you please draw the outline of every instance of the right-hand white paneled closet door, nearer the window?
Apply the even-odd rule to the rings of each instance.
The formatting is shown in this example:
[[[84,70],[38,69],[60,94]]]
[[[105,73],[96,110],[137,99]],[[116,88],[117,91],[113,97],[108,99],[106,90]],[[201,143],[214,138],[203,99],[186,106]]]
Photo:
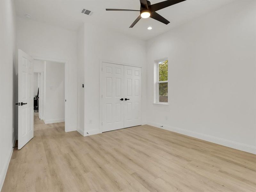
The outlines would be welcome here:
[[[141,125],[141,68],[124,66],[124,128]]]

